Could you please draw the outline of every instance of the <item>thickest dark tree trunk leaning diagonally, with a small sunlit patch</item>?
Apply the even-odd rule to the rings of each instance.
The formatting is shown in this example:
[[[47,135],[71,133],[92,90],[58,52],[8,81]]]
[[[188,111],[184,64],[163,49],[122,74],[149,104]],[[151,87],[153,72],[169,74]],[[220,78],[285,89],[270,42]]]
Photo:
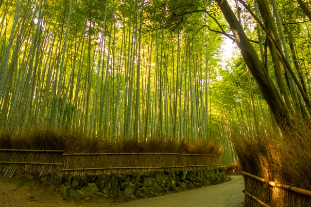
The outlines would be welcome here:
[[[285,128],[290,122],[291,118],[289,111],[282,100],[281,96],[276,91],[270,76],[264,65],[261,63],[255,49],[250,44],[247,36],[245,35],[237,17],[232,12],[227,0],[216,0],[220,9],[222,10],[225,19],[230,25],[233,36],[236,40],[238,47],[241,49],[242,57],[250,69],[252,75],[258,83],[259,90],[264,97],[265,101],[271,108],[277,124],[280,128]]]

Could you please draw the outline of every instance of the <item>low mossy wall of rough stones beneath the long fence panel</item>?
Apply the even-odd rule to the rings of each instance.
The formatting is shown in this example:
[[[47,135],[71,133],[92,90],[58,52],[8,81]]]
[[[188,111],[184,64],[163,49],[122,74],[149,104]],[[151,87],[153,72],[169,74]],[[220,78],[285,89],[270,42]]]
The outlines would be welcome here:
[[[62,196],[74,201],[135,200],[171,192],[220,184],[227,181],[223,167],[190,171],[154,171],[149,173],[63,175],[58,186]]]

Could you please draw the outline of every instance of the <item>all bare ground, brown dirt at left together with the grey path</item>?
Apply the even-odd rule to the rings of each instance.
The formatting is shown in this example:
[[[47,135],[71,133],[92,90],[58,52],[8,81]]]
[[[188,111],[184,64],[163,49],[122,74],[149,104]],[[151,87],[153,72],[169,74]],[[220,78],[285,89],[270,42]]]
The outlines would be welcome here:
[[[242,175],[233,180],[191,191],[139,199],[122,204],[116,201],[72,203],[63,200],[51,185],[22,178],[0,178],[0,207],[242,207],[244,181]]]

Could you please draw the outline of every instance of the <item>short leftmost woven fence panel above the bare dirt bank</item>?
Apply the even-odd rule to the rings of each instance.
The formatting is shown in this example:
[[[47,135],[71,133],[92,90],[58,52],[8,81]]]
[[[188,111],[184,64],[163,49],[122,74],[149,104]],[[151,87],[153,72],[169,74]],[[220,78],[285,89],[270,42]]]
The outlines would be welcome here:
[[[40,175],[54,179],[63,169],[61,150],[0,149],[0,174],[3,176]]]

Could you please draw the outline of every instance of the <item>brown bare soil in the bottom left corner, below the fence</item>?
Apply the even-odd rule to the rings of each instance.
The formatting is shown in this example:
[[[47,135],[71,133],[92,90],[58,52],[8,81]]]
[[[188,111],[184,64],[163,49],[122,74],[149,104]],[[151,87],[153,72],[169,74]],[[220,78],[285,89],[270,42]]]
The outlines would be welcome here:
[[[57,192],[56,185],[33,177],[0,177],[0,207],[107,207],[119,202],[91,201],[70,202]]]

